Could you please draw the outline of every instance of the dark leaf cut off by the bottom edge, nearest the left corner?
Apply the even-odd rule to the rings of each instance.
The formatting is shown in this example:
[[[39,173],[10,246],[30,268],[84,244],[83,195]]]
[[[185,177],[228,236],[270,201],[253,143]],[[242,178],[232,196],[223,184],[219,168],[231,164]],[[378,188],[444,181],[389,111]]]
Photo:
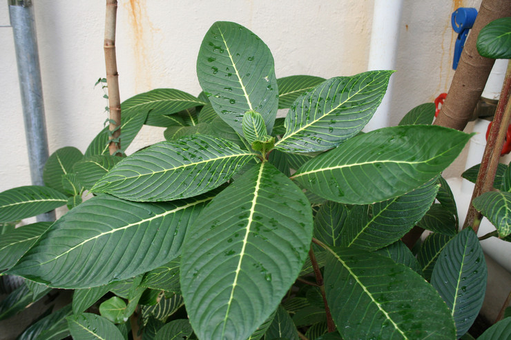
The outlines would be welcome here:
[[[32,323],[17,340],[60,340],[69,336],[66,317],[72,314],[71,306],[53,312],[43,319]]]

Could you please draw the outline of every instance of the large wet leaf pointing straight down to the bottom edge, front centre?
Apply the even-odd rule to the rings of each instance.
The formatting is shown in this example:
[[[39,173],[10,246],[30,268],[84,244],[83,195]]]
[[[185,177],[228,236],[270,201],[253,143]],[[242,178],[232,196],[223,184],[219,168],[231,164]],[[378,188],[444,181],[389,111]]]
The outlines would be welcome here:
[[[307,198],[268,162],[218,194],[183,245],[181,290],[197,337],[247,339],[298,276],[312,229]]]

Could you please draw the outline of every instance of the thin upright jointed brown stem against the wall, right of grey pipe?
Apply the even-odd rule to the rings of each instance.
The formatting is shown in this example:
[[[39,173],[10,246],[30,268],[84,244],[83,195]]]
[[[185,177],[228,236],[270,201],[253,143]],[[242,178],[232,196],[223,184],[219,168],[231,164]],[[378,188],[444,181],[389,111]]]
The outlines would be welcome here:
[[[119,74],[117,73],[117,59],[115,57],[115,23],[117,21],[117,0],[106,0],[105,17],[105,66],[106,85],[108,86],[108,107],[110,154],[117,154],[121,148],[121,98],[119,95]]]

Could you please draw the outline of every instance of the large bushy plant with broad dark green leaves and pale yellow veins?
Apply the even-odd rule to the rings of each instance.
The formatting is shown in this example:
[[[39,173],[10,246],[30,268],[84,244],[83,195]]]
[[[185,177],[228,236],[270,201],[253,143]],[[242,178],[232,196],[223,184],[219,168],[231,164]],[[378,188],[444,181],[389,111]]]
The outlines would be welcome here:
[[[122,103],[123,148],[144,123],[166,141],[111,157],[104,130],[84,155],[57,150],[47,186],[0,193],[1,221],[70,208],[0,241],[3,274],[27,279],[12,306],[75,290],[20,339],[461,337],[486,269],[440,174],[470,134],[428,125],[430,104],[361,132],[391,75],[277,79],[260,38],[213,24],[203,93]],[[416,225],[435,231],[417,259],[400,241]]]

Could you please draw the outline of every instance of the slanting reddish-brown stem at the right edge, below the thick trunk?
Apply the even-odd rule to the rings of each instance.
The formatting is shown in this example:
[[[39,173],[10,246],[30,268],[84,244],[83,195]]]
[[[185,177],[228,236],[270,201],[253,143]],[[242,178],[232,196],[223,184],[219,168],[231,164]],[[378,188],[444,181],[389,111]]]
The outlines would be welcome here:
[[[467,217],[463,224],[463,229],[472,227],[477,233],[479,230],[479,223],[482,215],[472,206],[472,201],[481,196],[481,194],[492,190],[493,181],[495,178],[496,168],[499,166],[499,159],[501,158],[501,150],[504,143],[505,135],[508,132],[509,121],[511,117],[511,106],[509,97],[511,93],[511,64],[508,65],[508,70],[505,73],[505,81],[502,86],[501,97],[499,104],[497,104],[495,116],[493,118],[492,128],[488,134],[488,141],[481,160],[481,168],[477,174],[476,185],[470,199],[470,206],[468,208]],[[477,223],[479,220],[479,223]],[[475,223],[474,223],[475,222]]]

